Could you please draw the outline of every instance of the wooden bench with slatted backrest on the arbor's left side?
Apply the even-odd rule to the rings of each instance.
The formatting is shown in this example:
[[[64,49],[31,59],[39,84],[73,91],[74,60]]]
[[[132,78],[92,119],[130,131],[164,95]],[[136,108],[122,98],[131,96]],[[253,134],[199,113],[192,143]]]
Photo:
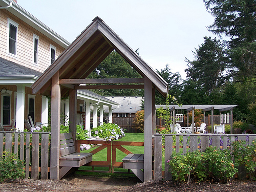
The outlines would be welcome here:
[[[59,142],[59,179],[70,173],[73,167],[80,167],[92,161],[92,153],[76,153],[72,133],[61,133]]]

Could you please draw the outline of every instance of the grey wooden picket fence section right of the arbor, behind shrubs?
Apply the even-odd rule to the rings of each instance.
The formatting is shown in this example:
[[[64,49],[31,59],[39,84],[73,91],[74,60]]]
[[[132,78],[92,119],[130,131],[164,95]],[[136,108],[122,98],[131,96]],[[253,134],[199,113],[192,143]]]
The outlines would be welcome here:
[[[164,145],[162,145],[163,136]],[[173,142],[173,138],[175,138],[175,144]],[[162,176],[164,176],[165,180],[170,180],[172,178],[168,171],[169,165],[167,164],[167,161],[170,159],[173,150],[175,150],[177,153],[182,152],[182,154],[184,155],[188,150],[193,152],[198,148],[200,148],[201,151],[204,152],[206,150],[206,147],[208,147],[209,145],[226,149],[231,148],[232,146],[230,146],[230,144],[236,139],[244,140],[248,142],[248,144],[251,144],[252,141],[256,139],[256,135],[156,134],[154,146],[154,179],[161,180]],[[164,166],[162,166],[162,148],[164,148]],[[164,170],[164,172],[162,172],[162,170]]]

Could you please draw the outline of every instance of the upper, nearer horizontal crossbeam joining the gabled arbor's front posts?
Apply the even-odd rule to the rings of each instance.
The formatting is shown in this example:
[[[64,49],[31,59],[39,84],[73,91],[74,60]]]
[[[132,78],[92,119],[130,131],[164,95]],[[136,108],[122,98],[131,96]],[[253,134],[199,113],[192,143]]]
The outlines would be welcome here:
[[[143,78],[60,79],[59,84],[144,83]]]

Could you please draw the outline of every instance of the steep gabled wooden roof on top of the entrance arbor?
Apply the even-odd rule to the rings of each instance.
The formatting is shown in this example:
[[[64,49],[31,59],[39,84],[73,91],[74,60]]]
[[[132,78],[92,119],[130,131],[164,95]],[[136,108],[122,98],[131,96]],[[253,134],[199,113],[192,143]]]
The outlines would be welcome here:
[[[150,39],[149,39],[150,40]],[[96,17],[93,22],[72,42],[72,44],[53,62],[53,64],[33,84],[33,93],[48,95],[51,91],[51,78],[59,71],[59,79],[66,84],[61,87],[61,94],[65,89],[79,89],[84,81],[70,81],[67,79],[85,79],[108,56],[116,50],[143,77],[150,79],[156,89],[167,95],[168,84],[150,66],[143,61],[125,42],[106,25],[102,19]],[[137,79],[143,83],[143,79]],[[75,83],[74,83],[75,82]],[[136,83],[136,82],[132,82]],[[68,85],[67,85],[68,84]],[[77,87],[75,87],[77,86]],[[142,86],[141,86],[142,87]]]

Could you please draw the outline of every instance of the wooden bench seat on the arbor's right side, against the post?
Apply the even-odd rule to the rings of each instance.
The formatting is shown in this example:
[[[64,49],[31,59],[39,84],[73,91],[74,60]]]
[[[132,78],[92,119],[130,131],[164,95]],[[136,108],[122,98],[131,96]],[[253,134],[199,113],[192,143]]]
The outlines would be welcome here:
[[[123,168],[131,169],[132,172],[144,182],[144,154],[128,154],[122,159]]]

